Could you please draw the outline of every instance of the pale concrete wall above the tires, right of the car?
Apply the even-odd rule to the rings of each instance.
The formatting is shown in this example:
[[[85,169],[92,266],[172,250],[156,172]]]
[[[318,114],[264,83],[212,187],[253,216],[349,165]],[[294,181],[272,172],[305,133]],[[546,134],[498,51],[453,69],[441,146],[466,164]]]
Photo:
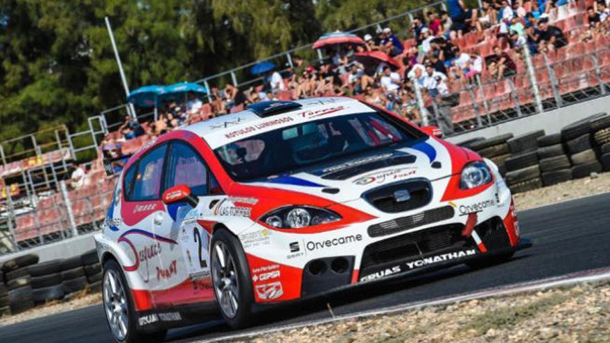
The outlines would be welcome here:
[[[476,137],[489,138],[507,133],[519,136],[519,134],[541,129],[543,129],[546,134],[554,134],[561,131],[561,127],[598,112],[610,112],[610,96],[561,107],[541,114],[516,118],[512,121],[501,123],[500,125],[484,127],[479,130],[449,137],[447,141],[450,141],[451,143],[460,143]]]

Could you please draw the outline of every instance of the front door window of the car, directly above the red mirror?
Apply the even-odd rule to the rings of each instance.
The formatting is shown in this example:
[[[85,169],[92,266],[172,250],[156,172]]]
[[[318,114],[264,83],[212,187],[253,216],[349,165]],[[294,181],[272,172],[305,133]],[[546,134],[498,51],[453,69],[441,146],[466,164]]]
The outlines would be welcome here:
[[[181,184],[189,186],[193,195],[207,195],[207,166],[195,149],[174,141],[166,170],[166,188]]]

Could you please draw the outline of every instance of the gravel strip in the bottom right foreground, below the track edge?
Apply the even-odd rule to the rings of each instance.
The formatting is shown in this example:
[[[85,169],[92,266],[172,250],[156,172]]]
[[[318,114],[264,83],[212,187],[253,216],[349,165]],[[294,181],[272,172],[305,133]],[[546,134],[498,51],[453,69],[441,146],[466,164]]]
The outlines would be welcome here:
[[[610,283],[430,306],[232,342],[610,342]]]

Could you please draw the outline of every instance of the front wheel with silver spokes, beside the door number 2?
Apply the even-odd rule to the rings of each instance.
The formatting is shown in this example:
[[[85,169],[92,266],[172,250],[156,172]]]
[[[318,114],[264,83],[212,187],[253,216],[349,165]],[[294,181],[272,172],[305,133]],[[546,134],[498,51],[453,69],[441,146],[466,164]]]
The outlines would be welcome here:
[[[211,274],[220,313],[232,328],[252,323],[252,279],[239,240],[226,229],[211,239]]]

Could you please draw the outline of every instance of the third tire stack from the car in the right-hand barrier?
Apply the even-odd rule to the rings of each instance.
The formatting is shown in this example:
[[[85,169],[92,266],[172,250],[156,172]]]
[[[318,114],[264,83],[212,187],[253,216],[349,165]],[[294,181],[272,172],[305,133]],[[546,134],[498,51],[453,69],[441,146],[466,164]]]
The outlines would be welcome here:
[[[561,144],[561,134],[538,137],[537,141],[542,184],[551,186],[572,179],[572,164]]]

